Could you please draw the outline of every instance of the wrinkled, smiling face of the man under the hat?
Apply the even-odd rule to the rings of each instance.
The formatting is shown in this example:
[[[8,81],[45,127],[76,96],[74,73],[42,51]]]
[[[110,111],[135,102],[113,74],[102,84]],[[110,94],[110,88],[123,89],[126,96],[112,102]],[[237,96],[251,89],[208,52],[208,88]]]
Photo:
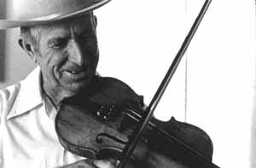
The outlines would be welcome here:
[[[91,15],[42,26],[36,61],[44,90],[74,96],[96,72],[98,47]]]

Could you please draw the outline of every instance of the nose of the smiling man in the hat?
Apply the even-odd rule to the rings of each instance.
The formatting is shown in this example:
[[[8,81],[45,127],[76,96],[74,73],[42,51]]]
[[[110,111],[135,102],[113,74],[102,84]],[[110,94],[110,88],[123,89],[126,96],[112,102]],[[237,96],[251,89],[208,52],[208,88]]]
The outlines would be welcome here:
[[[79,43],[77,43],[75,40],[72,40],[70,42],[69,46],[69,60],[73,61],[79,66],[84,65],[84,55],[82,52],[81,47],[79,46]]]

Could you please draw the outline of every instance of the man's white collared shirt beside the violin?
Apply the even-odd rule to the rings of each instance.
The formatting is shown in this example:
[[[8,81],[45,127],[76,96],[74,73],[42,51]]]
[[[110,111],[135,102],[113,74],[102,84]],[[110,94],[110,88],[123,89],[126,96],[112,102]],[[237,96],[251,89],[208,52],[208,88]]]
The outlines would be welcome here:
[[[48,168],[78,161],[55,133],[55,107],[40,86],[40,68],[0,90],[0,167]]]

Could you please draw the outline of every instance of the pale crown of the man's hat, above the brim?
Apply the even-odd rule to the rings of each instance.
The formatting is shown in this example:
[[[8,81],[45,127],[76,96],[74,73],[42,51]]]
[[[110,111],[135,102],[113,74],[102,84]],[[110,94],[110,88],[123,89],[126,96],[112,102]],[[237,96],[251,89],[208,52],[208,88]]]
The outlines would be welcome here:
[[[54,17],[56,14],[69,14],[88,8],[94,3],[95,0],[8,0],[8,19],[34,20],[45,16]]]

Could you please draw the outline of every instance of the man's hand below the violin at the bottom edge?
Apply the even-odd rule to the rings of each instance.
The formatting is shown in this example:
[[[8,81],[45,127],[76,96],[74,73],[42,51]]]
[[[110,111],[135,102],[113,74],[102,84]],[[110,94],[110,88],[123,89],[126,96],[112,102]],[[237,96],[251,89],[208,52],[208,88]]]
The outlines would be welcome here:
[[[64,165],[59,168],[116,168],[117,166],[110,160],[92,160],[92,159],[83,159],[78,162],[75,162],[71,165]]]

